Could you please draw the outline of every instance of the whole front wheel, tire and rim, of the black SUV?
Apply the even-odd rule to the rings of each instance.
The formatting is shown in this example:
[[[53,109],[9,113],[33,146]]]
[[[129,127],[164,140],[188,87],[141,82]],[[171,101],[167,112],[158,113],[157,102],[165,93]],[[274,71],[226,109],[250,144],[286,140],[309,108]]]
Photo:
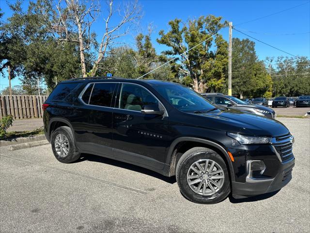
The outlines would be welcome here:
[[[217,203],[231,191],[223,158],[208,148],[187,150],[177,164],[176,179],[181,193],[196,203]]]

